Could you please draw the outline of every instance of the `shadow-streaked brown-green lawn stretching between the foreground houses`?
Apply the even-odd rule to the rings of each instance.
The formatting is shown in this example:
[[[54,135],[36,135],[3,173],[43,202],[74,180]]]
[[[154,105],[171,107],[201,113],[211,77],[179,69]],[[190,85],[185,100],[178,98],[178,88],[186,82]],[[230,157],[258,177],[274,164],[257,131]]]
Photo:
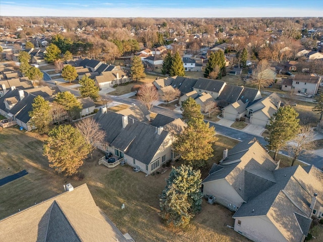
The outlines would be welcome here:
[[[220,205],[206,204],[205,201],[202,212],[194,217],[187,228],[166,228],[158,216],[158,196],[166,185],[165,178],[170,169],[163,174],[149,176],[142,172],[135,173],[127,165],[109,169],[97,164],[103,154],[95,152],[93,160],[86,160],[81,167],[85,178],[71,180],[57,175],[48,167],[46,158],[42,156],[43,142],[26,134],[18,129],[4,129],[0,133],[0,178],[23,169],[29,172],[0,187],[0,218],[62,193],[65,183],[71,183],[74,187],[86,183],[97,206],[121,232],[128,232],[136,241],[249,241],[225,226],[233,225],[230,211]],[[219,161],[223,148],[231,148],[234,143],[222,137],[217,145],[214,153]],[[174,165],[179,164],[176,162]],[[126,207],[122,210],[123,203]]]

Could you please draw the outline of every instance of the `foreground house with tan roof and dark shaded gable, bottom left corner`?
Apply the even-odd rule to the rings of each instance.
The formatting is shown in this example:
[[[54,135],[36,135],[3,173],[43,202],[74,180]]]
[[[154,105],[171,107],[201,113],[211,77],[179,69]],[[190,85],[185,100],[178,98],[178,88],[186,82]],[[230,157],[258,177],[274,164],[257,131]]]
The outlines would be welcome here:
[[[122,241],[123,235],[96,206],[86,184],[0,220],[0,240],[14,241]]]

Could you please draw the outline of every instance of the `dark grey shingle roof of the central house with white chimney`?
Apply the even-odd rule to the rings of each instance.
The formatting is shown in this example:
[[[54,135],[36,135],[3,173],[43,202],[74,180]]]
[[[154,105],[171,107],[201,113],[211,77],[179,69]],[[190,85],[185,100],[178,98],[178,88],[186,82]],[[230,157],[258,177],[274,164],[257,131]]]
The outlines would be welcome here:
[[[132,158],[149,164],[160,145],[164,142],[168,132],[165,130],[160,135],[156,127],[147,125],[132,118],[128,118],[128,125],[122,127],[122,114],[101,110],[94,116],[96,122],[105,130],[105,141],[124,150]]]

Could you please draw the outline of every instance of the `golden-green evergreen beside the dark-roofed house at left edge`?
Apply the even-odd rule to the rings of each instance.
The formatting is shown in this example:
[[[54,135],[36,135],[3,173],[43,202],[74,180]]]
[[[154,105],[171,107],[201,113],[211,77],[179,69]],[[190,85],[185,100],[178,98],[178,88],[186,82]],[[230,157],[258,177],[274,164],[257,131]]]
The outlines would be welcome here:
[[[29,111],[28,114],[31,117],[32,125],[36,127],[40,134],[47,133],[52,120],[49,102],[42,96],[37,96],[34,98],[31,105],[32,110]]]

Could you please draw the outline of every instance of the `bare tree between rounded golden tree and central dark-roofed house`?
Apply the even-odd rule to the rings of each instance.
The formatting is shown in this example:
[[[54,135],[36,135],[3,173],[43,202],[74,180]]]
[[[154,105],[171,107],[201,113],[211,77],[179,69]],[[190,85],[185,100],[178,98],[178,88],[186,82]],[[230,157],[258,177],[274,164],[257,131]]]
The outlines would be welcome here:
[[[75,127],[89,145],[89,153],[92,158],[92,151],[96,147],[104,145],[105,132],[100,129],[100,125],[92,117],[82,119]]]

